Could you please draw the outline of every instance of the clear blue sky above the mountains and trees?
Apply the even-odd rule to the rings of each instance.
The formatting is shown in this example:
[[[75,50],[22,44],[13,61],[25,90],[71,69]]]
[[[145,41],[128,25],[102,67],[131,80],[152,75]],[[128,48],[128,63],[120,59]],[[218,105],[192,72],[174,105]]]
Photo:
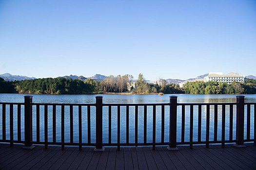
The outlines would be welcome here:
[[[1,0],[0,74],[256,75],[255,0]]]

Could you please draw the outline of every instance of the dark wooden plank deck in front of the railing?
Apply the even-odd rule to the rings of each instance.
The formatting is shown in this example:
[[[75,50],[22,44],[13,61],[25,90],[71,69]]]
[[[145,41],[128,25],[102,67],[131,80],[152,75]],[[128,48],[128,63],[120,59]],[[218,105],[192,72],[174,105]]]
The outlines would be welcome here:
[[[94,152],[94,148],[36,146],[32,150],[23,145],[0,144],[0,170],[255,170],[256,146],[247,143],[246,148],[233,145],[178,146],[178,151],[168,151],[166,146],[105,148],[105,152]]]

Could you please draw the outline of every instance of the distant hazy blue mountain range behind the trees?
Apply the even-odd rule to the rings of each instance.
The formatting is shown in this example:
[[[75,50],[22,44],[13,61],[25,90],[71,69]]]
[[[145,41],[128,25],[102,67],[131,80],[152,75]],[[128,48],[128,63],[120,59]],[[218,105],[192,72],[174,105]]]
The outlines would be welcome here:
[[[204,78],[205,76],[208,76],[208,74],[203,74],[203,75],[200,75],[200,76],[197,76],[196,78],[190,78],[190,79],[187,79],[187,80],[195,80],[195,79],[202,79]],[[5,73],[5,74],[0,74],[0,77],[3,78],[5,81],[14,81],[14,80],[30,80],[30,79],[36,79],[36,77],[27,77],[27,76],[20,76],[20,75],[12,75],[10,73]],[[83,76],[77,76],[77,75],[69,75],[69,76],[62,76],[62,77],[59,77],[59,78],[66,78],[66,79],[79,79],[81,81],[84,81],[88,78],[91,78],[91,79],[94,79],[95,81],[97,82],[100,82],[102,80],[104,80],[107,76],[104,76],[104,75],[101,75],[101,74],[95,74],[94,76],[92,77],[83,77]],[[248,79],[255,79],[256,80],[256,76],[253,76],[253,75],[249,75],[249,76],[245,76],[245,78],[248,78]],[[158,82],[161,82],[163,79],[158,79]],[[166,79],[166,83],[167,84],[179,84],[181,82],[184,82],[184,81],[187,81],[187,80],[181,80],[181,79]],[[136,80],[134,80],[136,81]],[[149,83],[155,83],[156,81],[147,81]]]

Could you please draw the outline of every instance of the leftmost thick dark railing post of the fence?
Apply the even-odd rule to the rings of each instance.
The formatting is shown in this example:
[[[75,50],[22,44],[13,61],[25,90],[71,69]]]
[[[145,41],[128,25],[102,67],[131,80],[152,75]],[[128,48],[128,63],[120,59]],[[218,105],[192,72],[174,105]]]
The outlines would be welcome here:
[[[33,96],[24,96],[24,126],[25,126],[25,145],[24,149],[33,149],[32,145],[32,98]]]

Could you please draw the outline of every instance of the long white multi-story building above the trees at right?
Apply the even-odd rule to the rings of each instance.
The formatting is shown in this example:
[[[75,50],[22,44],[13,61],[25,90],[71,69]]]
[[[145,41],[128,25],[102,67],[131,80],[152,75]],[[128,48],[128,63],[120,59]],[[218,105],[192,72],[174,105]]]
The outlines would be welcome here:
[[[244,75],[240,75],[239,73],[228,73],[222,74],[222,72],[210,72],[208,76],[204,77],[204,82],[208,81],[217,81],[222,83],[231,84],[233,81],[243,83],[246,81]]]

